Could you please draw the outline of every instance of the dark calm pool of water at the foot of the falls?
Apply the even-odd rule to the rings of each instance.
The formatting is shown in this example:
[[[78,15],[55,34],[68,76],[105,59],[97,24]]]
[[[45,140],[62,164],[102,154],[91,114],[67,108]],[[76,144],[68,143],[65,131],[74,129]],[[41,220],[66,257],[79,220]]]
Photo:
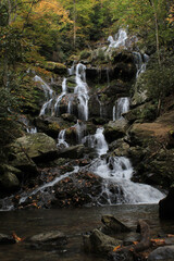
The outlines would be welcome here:
[[[0,246],[0,260],[3,261],[102,261],[104,259],[85,254],[82,234],[102,225],[101,215],[113,214],[132,228],[137,221],[144,219],[150,225],[153,235],[174,233],[171,223],[161,223],[158,217],[157,204],[123,204],[103,208],[24,210],[0,212],[0,233],[16,233],[20,237],[58,229],[69,240],[62,253],[41,251],[29,248],[25,240],[15,245]]]

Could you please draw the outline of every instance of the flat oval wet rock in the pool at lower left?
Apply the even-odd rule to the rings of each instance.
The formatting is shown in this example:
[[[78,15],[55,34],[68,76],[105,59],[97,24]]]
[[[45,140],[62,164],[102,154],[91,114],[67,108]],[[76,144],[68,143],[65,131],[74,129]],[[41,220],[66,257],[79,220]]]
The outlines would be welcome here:
[[[30,247],[34,249],[44,250],[58,250],[62,246],[67,244],[66,236],[59,231],[51,231],[47,233],[40,233],[28,239]]]

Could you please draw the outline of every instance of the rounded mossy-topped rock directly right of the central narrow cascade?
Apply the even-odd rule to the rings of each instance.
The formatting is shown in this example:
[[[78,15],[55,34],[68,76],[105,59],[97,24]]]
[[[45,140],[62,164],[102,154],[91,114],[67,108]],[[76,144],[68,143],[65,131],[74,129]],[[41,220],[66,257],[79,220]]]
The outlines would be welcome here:
[[[104,127],[103,134],[105,136],[105,139],[109,142],[112,142],[117,138],[122,138],[126,134],[126,130],[127,122],[123,119],[115,122],[109,122],[109,124]]]

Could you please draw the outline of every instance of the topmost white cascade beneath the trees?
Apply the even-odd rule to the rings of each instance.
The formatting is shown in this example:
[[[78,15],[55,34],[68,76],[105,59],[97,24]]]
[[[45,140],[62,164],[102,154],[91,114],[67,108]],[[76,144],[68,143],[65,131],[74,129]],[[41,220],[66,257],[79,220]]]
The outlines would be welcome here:
[[[112,36],[109,36],[108,41],[110,42],[109,48],[119,48],[124,47],[126,48],[126,39],[127,39],[127,33],[125,29],[119,29],[119,33],[113,38]]]

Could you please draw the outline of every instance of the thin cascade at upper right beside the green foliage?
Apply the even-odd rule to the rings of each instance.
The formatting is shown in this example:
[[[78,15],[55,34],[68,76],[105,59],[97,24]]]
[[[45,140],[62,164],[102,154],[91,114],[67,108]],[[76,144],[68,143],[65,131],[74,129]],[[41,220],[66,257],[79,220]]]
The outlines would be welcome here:
[[[136,78],[138,78],[138,76],[146,71],[149,55],[146,53],[141,54],[140,52],[133,52],[133,54],[137,67]]]

